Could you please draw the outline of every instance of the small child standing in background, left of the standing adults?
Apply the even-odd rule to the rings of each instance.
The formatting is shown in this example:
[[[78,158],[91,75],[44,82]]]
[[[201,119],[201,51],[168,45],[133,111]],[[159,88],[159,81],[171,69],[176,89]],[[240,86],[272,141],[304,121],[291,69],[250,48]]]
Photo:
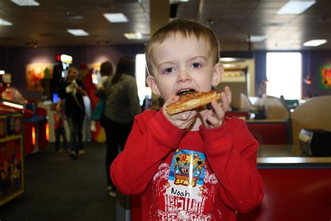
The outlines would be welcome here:
[[[60,140],[64,141],[64,150],[68,150],[68,141],[66,139],[66,129],[64,128],[64,120],[66,120],[66,114],[64,113],[64,108],[61,107],[57,110],[56,104],[51,105],[51,110],[53,111],[54,117],[54,134],[55,134],[55,151],[62,152],[62,148],[59,148]]]

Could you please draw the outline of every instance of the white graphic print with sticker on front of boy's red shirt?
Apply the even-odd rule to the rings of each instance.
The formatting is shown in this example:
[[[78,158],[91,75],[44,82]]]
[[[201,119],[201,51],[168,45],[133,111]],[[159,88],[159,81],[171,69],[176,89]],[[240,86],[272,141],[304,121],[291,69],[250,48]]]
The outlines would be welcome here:
[[[182,158],[178,159],[178,157]],[[180,162],[179,166],[177,162],[178,160],[180,161],[180,159],[182,159],[182,162]],[[198,187],[198,193],[196,195],[200,196],[197,197],[198,199],[191,198],[193,194],[189,192],[189,185],[186,185],[186,182],[177,181],[183,184],[175,185],[175,174],[179,174],[177,178],[181,178],[180,176],[186,174],[187,169],[189,168],[184,162],[191,162],[191,160],[194,162],[193,167],[191,167],[192,174],[195,174],[196,177],[198,177],[196,182],[196,187]],[[194,166],[194,164],[196,166]],[[195,173],[193,173],[193,171],[195,171]],[[200,176],[198,175],[199,173]],[[170,177],[172,180],[170,180]],[[191,185],[193,187],[193,182],[191,182]],[[219,208],[214,208],[213,206],[218,192],[218,185],[219,183],[216,176],[209,171],[203,153],[191,150],[176,150],[172,155],[170,162],[160,164],[159,169],[153,177],[153,203],[151,204],[151,208],[149,208],[149,220],[220,220],[221,211],[219,211]],[[172,187],[174,187],[173,190]],[[178,191],[179,188],[184,188],[184,190],[182,190],[182,196],[180,196],[181,191]],[[215,209],[218,212],[214,214],[217,214],[214,217],[214,215],[212,215],[212,210]],[[151,211],[157,211],[157,213]]]

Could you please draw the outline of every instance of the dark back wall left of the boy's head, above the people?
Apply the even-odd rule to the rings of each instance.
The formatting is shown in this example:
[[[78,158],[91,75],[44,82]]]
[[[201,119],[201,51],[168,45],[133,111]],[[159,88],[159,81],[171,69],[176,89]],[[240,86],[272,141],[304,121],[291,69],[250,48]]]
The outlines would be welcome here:
[[[82,63],[105,62],[115,65],[119,57],[144,53],[144,45],[108,45],[108,46],[66,46],[45,48],[0,48],[0,70],[12,75],[12,86],[19,90],[25,99],[40,99],[42,92],[26,90],[25,68],[31,63],[57,63],[55,57],[63,53],[73,57],[73,66]]]

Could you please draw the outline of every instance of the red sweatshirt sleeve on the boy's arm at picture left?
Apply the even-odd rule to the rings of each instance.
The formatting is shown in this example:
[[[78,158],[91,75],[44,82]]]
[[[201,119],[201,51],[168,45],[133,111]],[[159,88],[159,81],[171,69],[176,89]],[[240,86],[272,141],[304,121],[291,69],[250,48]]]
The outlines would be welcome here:
[[[161,160],[178,146],[184,133],[173,126],[162,111],[145,110],[137,115],[124,151],[110,166],[117,189],[123,194],[144,192]]]

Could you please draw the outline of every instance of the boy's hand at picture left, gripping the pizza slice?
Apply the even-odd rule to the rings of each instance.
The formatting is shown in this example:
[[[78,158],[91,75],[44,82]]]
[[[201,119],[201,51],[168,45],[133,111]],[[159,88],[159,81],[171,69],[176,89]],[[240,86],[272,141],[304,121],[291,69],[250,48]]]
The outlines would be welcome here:
[[[187,110],[175,115],[168,115],[165,107],[169,104],[175,103],[176,101],[179,101],[179,96],[170,97],[170,99],[163,104],[163,114],[174,126],[179,129],[188,129],[191,124],[193,124],[194,120],[196,120],[198,112],[196,110]]]

